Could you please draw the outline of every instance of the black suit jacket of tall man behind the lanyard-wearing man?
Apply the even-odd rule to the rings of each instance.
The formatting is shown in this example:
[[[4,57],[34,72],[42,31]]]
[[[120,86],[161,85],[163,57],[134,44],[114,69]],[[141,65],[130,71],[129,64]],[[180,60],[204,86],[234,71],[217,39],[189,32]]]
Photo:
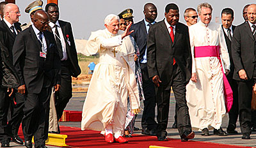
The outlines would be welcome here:
[[[70,59],[70,62],[72,63],[71,75],[73,77],[77,77],[81,73],[81,69],[79,67],[78,60],[77,60],[76,45],[74,41],[71,24],[63,20],[58,20],[58,21],[59,21],[63,36],[65,38],[68,59]]]

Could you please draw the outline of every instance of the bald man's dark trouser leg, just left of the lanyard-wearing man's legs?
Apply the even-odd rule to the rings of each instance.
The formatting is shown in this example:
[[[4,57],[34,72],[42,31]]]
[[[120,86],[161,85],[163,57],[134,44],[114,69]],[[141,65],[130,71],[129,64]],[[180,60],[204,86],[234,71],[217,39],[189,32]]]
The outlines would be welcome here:
[[[8,122],[8,134],[12,135],[13,137],[17,137],[20,123],[23,118],[23,108],[24,108],[24,102],[26,100],[24,94],[20,94],[17,91],[15,91],[14,99],[16,104],[13,106],[13,114],[12,118]]]

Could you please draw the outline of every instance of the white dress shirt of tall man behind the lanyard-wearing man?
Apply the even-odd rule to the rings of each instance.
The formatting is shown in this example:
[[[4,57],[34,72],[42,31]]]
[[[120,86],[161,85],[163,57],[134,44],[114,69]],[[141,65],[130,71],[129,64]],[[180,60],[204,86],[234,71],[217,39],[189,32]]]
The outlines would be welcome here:
[[[61,41],[61,47],[62,47],[62,53],[63,53],[63,58],[61,59],[61,61],[65,61],[65,60],[68,59],[68,55],[67,55],[65,38],[63,36],[63,33],[62,33],[62,30],[61,30],[59,21],[57,20],[57,22],[55,24],[53,24],[53,22],[49,23],[49,26],[51,26],[51,28],[52,28],[52,33],[54,34],[54,37],[56,38],[57,35],[55,34],[55,29],[56,29],[56,27],[54,27],[55,25],[58,26],[57,27],[58,28],[58,33],[60,34],[60,38],[59,39]]]

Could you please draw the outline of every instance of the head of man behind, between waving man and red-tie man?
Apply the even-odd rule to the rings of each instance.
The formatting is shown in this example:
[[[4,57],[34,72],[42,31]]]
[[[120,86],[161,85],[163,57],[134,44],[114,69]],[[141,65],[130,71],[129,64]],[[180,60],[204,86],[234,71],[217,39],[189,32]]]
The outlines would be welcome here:
[[[147,3],[144,5],[143,13],[147,22],[154,22],[157,17],[157,8],[153,3]]]

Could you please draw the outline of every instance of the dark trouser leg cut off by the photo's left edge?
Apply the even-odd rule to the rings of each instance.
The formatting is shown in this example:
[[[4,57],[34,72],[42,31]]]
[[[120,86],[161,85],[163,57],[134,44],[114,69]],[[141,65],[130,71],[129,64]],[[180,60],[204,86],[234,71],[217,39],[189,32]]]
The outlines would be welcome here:
[[[0,140],[1,142],[8,141],[10,138],[6,135],[7,129],[7,114],[10,105],[10,97],[8,96],[7,88],[0,87]]]

